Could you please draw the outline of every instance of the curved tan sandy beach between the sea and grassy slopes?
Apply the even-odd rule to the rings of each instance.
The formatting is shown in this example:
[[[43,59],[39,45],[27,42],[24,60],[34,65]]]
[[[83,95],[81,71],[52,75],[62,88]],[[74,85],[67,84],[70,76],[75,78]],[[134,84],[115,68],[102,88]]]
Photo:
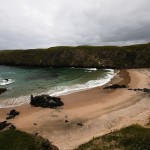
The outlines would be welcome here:
[[[150,88],[150,69],[120,70],[107,85],[115,83],[133,89]],[[49,139],[60,150],[72,150],[93,137],[131,124],[147,124],[150,94],[128,88],[103,90],[103,87],[61,96],[64,106],[59,109],[36,108],[30,104],[14,107],[20,115],[9,122],[20,130]],[[5,120],[11,109],[0,109],[0,121]]]

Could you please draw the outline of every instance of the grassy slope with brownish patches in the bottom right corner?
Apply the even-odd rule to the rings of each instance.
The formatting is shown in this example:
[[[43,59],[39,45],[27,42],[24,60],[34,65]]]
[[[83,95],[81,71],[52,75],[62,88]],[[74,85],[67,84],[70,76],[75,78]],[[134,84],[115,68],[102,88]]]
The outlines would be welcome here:
[[[133,125],[94,138],[76,150],[150,150],[150,128]]]

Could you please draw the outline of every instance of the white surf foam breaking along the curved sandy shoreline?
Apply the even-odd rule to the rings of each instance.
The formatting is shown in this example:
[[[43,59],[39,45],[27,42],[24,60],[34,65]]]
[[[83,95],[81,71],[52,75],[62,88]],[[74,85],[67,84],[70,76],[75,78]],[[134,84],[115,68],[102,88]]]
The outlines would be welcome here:
[[[93,68],[92,70],[95,70],[95,69]],[[82,91],[85,89],[91,89],[94,87],[102,86],[108,83],[117,74],[117,72],[115,73],[113,69],[109,69],[108,71],[109,72],[104,78],[99,78],[97,80],[90,80],[85,84],[74,84],[72,86],[57,86],[53,90],[50,90],[45,93],[40,93],[40,94],[49,94],[51,96],[61,96],[61,95],[66,95],[66,94],[70,94],[73,92]],[[35,95],[37,94],[35,93]],[[14,106],[22,105],[25,103],[29,103],[29,101],[30,101],[30,95],[21,96],[17,98],[8,98],[8,99],[4,99],[0,101],[0,108],[14,107]]]

